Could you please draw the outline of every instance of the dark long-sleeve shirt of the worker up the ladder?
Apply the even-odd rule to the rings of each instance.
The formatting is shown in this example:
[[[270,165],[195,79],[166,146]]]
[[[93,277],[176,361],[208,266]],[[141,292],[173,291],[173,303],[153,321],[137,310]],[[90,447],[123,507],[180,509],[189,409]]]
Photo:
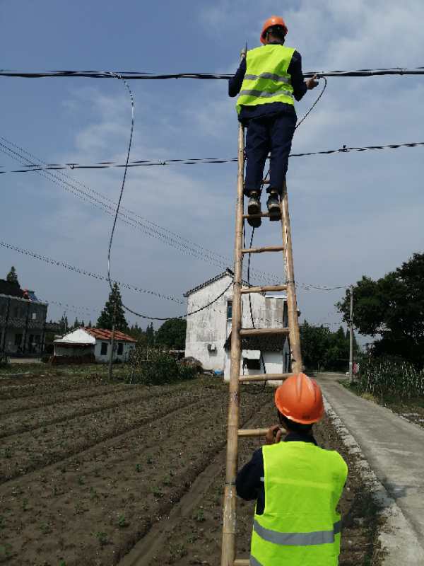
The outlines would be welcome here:
[[[278,42],[273,42],[273,44]],[[228,95],[231,97],[237,96],[242,89],[243,79],[246,74],[246,59],[242,59],[240,67],[237,69],[234,76],[228,79]],[[307,91],[305,79],[302,72],[302,57],[299,52],[295,51],[290,64],[287,69],[288,74],[291,76],[291,83],[293,86],[293,95],[296,100],[302,100]],[[293,104],[285,104],[283,102],[271,102],[267,104],[259,104],[254,106],[243,106],[240,111],[240,122],[248,122],[251,118],[258,118],[262,116],[269,116],[278,114],[280,112],[294,112],[295,107]]]

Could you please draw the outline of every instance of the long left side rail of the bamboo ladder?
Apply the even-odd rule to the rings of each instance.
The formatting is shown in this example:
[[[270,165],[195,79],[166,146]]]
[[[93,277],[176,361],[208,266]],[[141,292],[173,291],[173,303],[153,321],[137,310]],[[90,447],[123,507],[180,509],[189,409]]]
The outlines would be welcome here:
[[[238,461],[238,427],[240,410],[240,353],[242,327],[242,247],[245,171],[245,129],[239,125],[237,204],[235,213],[234,283],[232,291],[230,397],[228,400],[227,457],[223,509],[223,543],[221,566],[233,566],[235,560],[236,504],[235,478]]]

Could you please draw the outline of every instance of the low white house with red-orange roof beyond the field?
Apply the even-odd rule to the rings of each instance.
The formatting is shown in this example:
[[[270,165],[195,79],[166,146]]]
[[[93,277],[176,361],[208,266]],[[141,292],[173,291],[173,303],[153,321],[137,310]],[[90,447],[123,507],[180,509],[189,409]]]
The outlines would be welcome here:
[[[77,328],[64,337],[54,340],[54,357],[90,357],[96,362],[109,362],[112,347],[112,330]],[[115,330],[113,359],[125,362],[136,347],[133,337]]]

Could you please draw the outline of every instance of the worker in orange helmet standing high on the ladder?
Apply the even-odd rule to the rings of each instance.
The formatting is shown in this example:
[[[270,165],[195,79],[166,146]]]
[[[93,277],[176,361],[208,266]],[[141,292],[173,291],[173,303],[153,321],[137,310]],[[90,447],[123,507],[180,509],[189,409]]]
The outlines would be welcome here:
[[[267,201],[271,220],[281,217],[279,197],[283,192],[288,156],[296,126],[295,100],[315,88],[316,76],[304,81],[302,58],[292,47],[285,47],[287,26],[283,18],[271,16],[261,33],[263,47],[249,50],[228,83],[228,94],[240,96],[237,112],[247,126],[245,195],[247,211],[260,214],[260,192],[266,157],[271,151],[270,185]],[[248,219],[254,227],[261,218]]]

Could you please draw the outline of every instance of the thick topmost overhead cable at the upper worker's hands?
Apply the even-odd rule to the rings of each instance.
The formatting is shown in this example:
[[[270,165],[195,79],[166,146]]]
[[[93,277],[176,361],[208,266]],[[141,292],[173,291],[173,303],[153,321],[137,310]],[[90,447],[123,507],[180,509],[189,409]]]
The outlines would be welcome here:
[[[321,77],[358,77],[358,76],[386,76],[386,75],[424,75],[424,67],[415,67],[412,69],[403,67],[389,67],[387,69],[358,69],[356,71],[308,71],[304,73],[306,78],[317,75]],[[228,80],[232,74],[218,73],[167,73],[155,74],[145,71],[15,71],[8,69],[0,69],[0,76],[19,77],[20,79],[45,79],[57,77],[85,77],[86,79],[114,79],[119,76],[120,79],[138,80],[138,81],[156,81],[167,79],[199,79],[203,81],[209,80]]]

